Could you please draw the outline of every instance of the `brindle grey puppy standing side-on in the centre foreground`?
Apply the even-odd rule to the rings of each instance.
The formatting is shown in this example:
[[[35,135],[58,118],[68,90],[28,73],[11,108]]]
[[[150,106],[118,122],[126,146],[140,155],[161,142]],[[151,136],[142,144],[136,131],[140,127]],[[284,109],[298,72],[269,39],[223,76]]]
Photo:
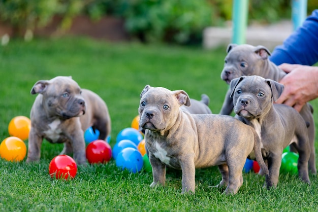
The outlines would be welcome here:
[[[235,194],[242,186],[242,170],[250,154],[268,171],[259,136],[252,127],[231,116],[181,110],[182,105],[191,104],[183,90],[147,85],[140,98],[139,126],[145,129],[151,187],[165,185],[168,166],[182,170],[182,193],[195,192],[196,168],[217,165],[222,175],[218,186],[227,186],[225,193]]]

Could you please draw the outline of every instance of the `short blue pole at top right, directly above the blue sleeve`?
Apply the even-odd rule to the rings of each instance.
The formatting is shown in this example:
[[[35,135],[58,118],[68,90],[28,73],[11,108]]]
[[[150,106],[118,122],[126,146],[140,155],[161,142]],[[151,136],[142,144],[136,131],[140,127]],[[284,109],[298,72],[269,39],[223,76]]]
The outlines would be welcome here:
[[[293,0],[292,22],[294,31],[303,23],[307,17],[307,0]]]

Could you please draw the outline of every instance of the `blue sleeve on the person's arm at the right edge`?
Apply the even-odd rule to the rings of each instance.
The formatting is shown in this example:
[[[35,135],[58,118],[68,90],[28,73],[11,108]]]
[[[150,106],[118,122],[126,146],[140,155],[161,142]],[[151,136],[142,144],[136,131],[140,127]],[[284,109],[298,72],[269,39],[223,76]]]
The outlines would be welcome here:
[[[276,65],[313,65],[318,62],[318,10],[314,10],[302,26],[273,50],[270,60]]]

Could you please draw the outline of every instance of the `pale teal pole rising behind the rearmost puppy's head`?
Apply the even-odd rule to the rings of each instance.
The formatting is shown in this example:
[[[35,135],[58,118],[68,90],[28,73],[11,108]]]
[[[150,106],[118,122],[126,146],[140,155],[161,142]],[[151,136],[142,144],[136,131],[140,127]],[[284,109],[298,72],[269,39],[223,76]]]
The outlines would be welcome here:
[[[248,0],[233,0],[232,43],[246,43]]]

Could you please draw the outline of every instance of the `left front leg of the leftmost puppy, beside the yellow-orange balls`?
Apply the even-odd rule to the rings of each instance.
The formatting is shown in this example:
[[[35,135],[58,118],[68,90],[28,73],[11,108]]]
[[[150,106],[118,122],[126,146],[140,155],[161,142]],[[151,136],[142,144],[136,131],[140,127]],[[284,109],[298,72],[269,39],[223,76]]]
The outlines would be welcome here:
[[[28,150],[26,162],[38,162],[41,156],[41,145],[43,137],[39,136],[35,130],[31,128],[28,138]]]

